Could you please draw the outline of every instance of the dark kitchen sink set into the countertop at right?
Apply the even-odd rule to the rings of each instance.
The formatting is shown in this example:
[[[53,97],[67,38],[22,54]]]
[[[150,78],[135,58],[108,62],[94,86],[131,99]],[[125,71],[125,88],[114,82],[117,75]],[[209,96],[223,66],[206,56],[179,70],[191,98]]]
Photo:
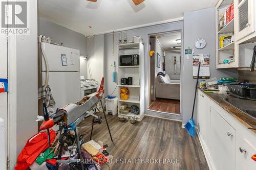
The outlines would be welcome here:
[[[224,101],[256,119],[256,101],[234,98],[233,96],[225,98]]]

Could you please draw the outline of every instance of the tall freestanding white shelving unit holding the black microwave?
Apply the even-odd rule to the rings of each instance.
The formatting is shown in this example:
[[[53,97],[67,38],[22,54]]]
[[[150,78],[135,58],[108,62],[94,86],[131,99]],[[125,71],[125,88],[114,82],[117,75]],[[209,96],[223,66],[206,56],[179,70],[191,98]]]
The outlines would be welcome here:
[[[136,66],[120,66],[120,55],[139,54],[140,65]],[[130,90],[130,98],[128,100],[121,100],[118,92],[118,117],[136,116],[138,121],[141,121],[145,114],[145,71],[144,71],[144,45],[142,42],[127,43],[118,45],[118,91],[122,87],[127,87]],[[121,79],[132,77],[133,85],[121,85]],[[128,107],[136,105],[140,108],[140,114],[133,113],[120,114],[119,106],[127,104]]]

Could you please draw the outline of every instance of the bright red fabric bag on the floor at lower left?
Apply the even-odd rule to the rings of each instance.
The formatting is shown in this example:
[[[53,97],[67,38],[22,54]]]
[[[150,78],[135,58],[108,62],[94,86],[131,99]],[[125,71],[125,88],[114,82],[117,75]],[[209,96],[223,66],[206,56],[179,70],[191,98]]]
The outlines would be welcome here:
[[[54,130],[50,130],[51,143],[53,142],[56,133]],[[18,155],[16,170],[26,170],[40,153],[44,152],[49,147],[47,132],[39,132],[31,137],[22,152]]]

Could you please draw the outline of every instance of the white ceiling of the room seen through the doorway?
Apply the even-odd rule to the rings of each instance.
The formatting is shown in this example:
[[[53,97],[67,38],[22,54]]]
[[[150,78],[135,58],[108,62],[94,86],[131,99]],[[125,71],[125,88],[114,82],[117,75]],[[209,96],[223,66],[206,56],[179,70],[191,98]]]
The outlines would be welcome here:
[[[160,45],[163,48],[163,51],[171,51],[171,50],[177,50],[174,48],[171,48],[170,46],[180,46],[180,44],[177,44],[177,39],[181,39],[181,33],[180,32],[172,32],[172,33],[165,33],[165,34],[159,34],[155,35],[158,39]]]

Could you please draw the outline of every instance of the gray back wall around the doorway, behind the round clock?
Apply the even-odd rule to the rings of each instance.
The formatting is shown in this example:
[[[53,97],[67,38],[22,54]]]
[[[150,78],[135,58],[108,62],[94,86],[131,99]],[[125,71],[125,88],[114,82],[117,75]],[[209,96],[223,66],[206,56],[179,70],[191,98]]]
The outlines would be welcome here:
[[[184,28],[184,34],[183,34]],[[184,14],[184,27],[183,21],[167,23],[164,25],[145,27],[134,30],[127,30],[128,41],[132,40],[133,36],[141,36],[145,45],[145,97],[148,97],[147,91],[147,75],[148,75],[148,35],[156,33],[164,33],[170,31],[181,30],[182,41],[182,53],[181,53],[181,115],[183,123],[185,124],[191,116],[191,110],[193,108],[194,91],[196,80],[193,79],[193,63],[192,56],[189,56],[187,60],[183,57],[183,49],[194,47],[194,42],[203,38],[206,40],[207,45],[202,50],[195,49],[195,54],[205,53],[210,54],[210,75],[213,77],[237,77],[237,69],[216,69],[216,53],[215,53],[215,8],[208,8],[199,11],[193,11]],[[106,34],[104,38],[104,73],[105,73],[105,88],[106,94],[111,94],[115,89],[116,83],[112,82],[111,63],[117,62],[117,42],[119,33],[114,34],[114,56],[113,52],[113,35]],[[184,37],[184,38],[183,38]],[[184,48],[183,48],[184,46]],[[102,61],[103,62],[103,61]],[[118,91],[114,91],[114,95],[117,95]],[[195,119],[197,114],[195,114]]]

